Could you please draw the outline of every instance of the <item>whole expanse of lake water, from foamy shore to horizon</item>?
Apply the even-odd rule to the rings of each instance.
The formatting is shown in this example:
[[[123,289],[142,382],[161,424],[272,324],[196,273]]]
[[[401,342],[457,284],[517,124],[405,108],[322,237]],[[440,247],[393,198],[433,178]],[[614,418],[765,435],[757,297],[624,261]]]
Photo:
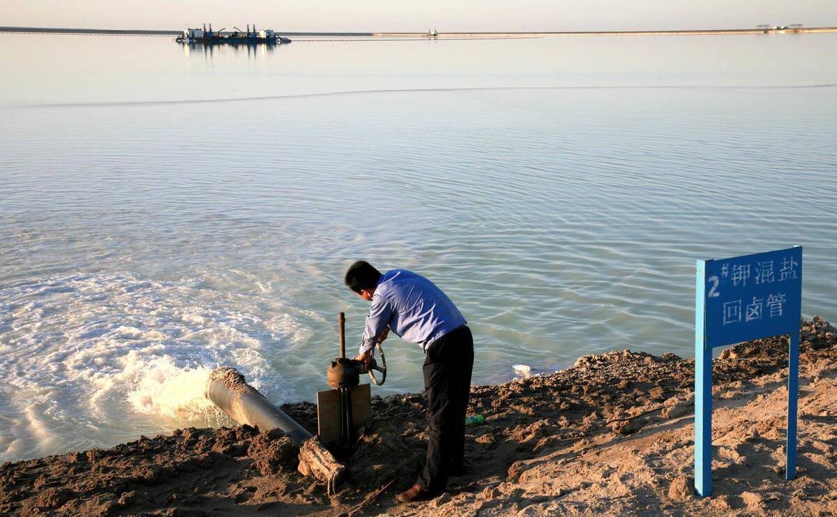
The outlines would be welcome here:
[[[691,356],[696,258],[804,246],[837,319],[837,34],[304,41],[0,34],[0,460],[313,400],[367,303],[444,289],[475,383]],[[373,393],[422,389],[390,337]]]

